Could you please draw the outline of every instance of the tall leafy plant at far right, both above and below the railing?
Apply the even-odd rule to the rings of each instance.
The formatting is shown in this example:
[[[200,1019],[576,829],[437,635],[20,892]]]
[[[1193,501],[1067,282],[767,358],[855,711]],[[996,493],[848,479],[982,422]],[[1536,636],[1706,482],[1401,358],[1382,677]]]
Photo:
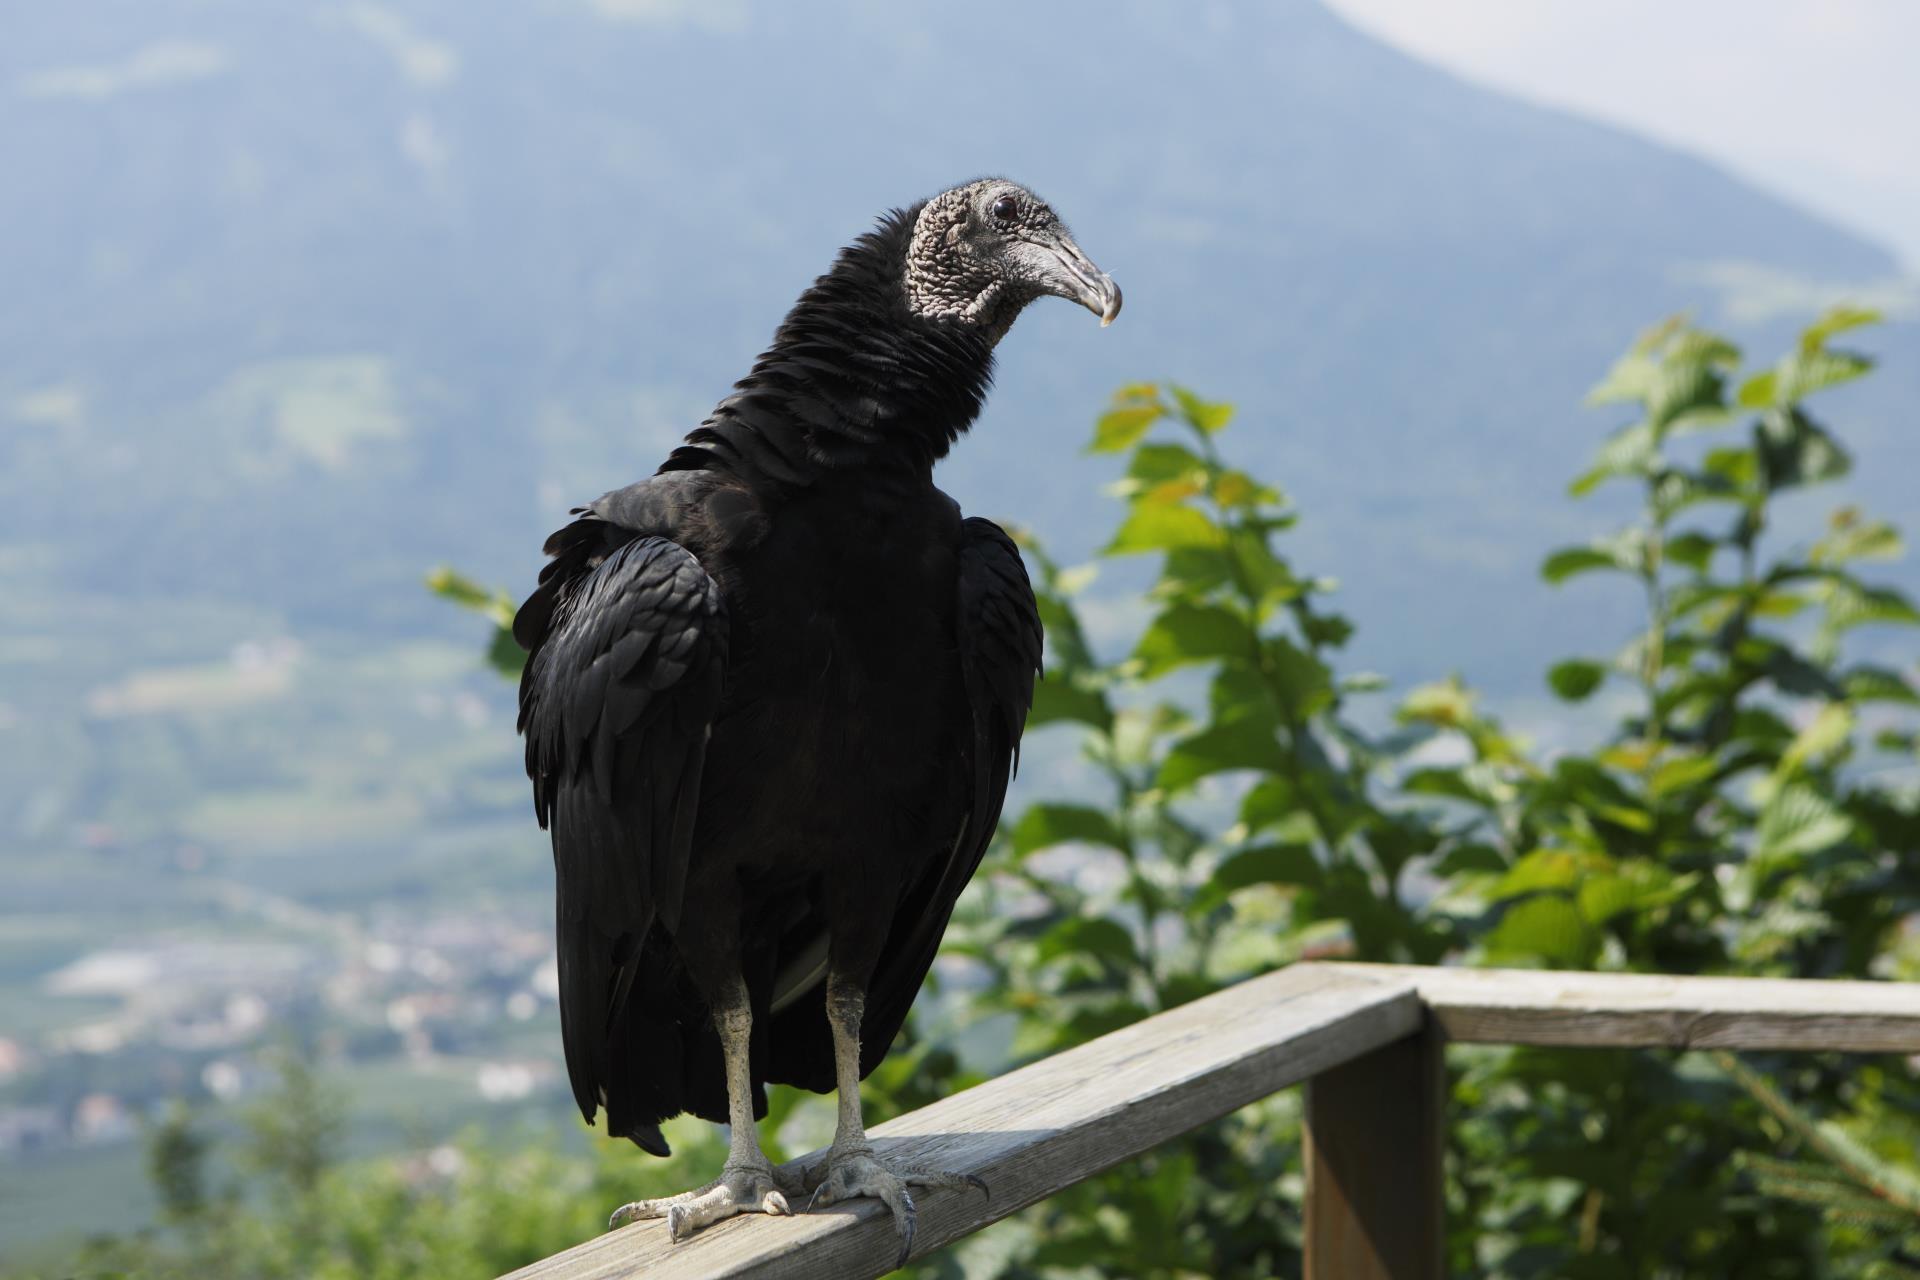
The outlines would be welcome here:
[[[1830,345],[1868,319],[1828,315],[1745,378],[1724,338],[1668,322],[1596,390],[1636,418],[1572,493],[1634,484],[1640,516],[1555,551],[1544,576],[1615,574],[1640,589],[1644,626],[1617,656],[1549,672],[1569,702],[1603,699],[1613,729],[1542,762],[1457,687],[1404,706],[1467,756],[1405,787],[1475,818],[1448,881],[1452,908],[1478,917],[1469,960],[1791,977],[1893,963],[1899,925],[1920,910],[1920,810],[1897,768],[1912,760],[1920,695],[1845,641],[1868,624],[1920,624],[1905,597],[1859,576],[1901,543],[1853,509],[1811,543],[1772,535],[1784,497],[1847,470],[1801,399],[1868,370]],[[1741,415],[1751,424],[1728,439]],[[1770,1184],[1734,1155],[1763,1109],[1709,1061],[1542,1050],[1463,1061],[1457,1171],[1475,1240],[1455,1242],[1455,1267],[1801,1276],[1866,1274],[1876,1255],[1822,1232],[1803,1203],[1753,1194]],[[1780,1073],[1803,1103],[1857,1092],[1837,1061],[1782,1059]],[[1885,1090],[1855,1100],[1864,1115],[1912,1105],[1905,1071],[1882,1079]]]

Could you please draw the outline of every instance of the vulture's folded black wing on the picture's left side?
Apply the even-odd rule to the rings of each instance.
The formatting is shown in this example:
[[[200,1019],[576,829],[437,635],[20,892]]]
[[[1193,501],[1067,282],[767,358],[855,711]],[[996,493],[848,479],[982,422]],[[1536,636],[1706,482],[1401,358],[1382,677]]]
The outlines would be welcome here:
[[[680,923],[707,737],[726,681],[718,585],[668,537],[586,512],[515,620],[520,731],[553,833],[561,1027],[574,1100],[612,1115],[609,1031],[647,931]]]

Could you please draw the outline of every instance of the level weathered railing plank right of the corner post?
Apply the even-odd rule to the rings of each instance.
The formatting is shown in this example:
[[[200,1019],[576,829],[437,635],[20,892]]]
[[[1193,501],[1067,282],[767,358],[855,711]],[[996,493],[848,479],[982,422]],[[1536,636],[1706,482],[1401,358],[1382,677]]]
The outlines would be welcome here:
[[[1920,1054],[1920,983],[1321,965],[1413,983],[1452,1040]]]

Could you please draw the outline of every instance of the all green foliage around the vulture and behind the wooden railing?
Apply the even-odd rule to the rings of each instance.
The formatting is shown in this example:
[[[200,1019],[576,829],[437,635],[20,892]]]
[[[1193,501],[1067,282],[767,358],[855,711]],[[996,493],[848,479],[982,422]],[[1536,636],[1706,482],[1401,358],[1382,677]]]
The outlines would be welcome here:
[[[1571,497],[1630,489],[1638,514],[1542,576],[1624,580],[1644,620],[1544,674],[1569,704],[1551,748],[1457,677],[1390,699],[1344,670],[1336,583],[1288,558],[1292,499],[1223,449],[1235,409],[1123,388],[1091,441],[1125,461],[1112,539],[1071,568],[1023,539],[1048,637],[1029,733],[1073,737],[1087,785],[1004,819],[870,1119],[1304,958],[1920,979],[1920,685],[1857,656],[1920,626],[1872,574],[1901,537],[1851,507],[1816,539],[1774,533],[1782,499],[1853,464],[1809,399],[1870,370],[1836,342],[1872,320],[1830,311],[1764,368],[1668,320],[1594,390],[1620,426]],[[1148,585],[1094,626],[1089,583],[1133,560]],[[511,601],[445,570],[432,587],[492,618],[515,674]],[[1463,1046],[1450,1065],[1453,1274],[1920,1276],[1908,1061]],[[84,1268],[493,1274],[722,1159],[682,1121],[668,1161],[540,1132],[340,1161],[338,1109],[288,1054],[236,1130],[173,1111],[148,1134],[165,1221],[104,1221]],[[829,1130],[826,1100],[774,1092],[776,1159]],[[914,1270],[1298,1274],[1298,1098],[1273,1098]]]

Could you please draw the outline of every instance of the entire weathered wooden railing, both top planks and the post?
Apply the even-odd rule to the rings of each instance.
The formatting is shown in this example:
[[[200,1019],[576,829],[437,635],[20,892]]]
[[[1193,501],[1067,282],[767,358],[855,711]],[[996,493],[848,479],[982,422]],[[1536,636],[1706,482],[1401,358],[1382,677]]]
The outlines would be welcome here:
[[[874,1146],[993,1188],[916,1194],[914,1257],[1267,1094],[1308,1084],[1309,1280],[1438,1280],[1448,1040],[1920,1054],[1920,984],[1300,963],[874,1128]],[[801,1157],[822,1159],[824,1151]],[[639,1222],[513,1272],[534,1280],[866,1278],[881,1205]]]

